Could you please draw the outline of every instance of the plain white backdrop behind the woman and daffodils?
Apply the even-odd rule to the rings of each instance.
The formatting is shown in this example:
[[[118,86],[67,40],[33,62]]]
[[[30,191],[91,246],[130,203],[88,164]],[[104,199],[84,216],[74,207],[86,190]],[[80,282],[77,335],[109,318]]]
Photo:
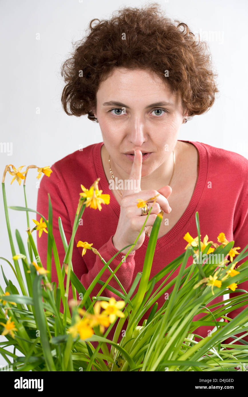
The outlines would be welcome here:
[[[185,22],[193,33],[209,44],[220,93],[207,114],[194,116],[182,125],[178,139],[199,141],[242,154],[248,158],[247,135],[247,14],[246,1],[178,0],[159,2],[166,15]],[[51,166],[80,145],[102,141],[99,124],[86,116],[68,116],[60,102],[64,83],[60,67],[72,52],[72,42],[81,39],[93,18],[108,19],[122,6],[146,2],[43,0],[1,2],[1,135],[0,142],[12,143],[13,153],[0,152],[0,171],[6,164]],[[37,33],[40,40],[37,40]],[[36,108],[40,108],[40,114]],[[23,170],[25,171],[25,167]],[[36,209],[37,170],[27,178],[29,208]],[[8,205],[24,205],[21,186],[6,175]],[[235,184],[235,181],[234,181]],[[15,229],[27,241],[26,214],[9,210],[12,234]],[[30,219],[35,219],[35,213]],[[2,194],[0,194],[0,256],[10,260]],[[33,224],[31,220],[31,224]],[[34,224],[33,224],[34,225]],[[33,226],[32,226],[33,227]],[[35,233],[34,233],[35,237]],[[20,266],[21,260],[19,261]],[[0,261],[8,279],[15,283],[7,262]],[[2,272],[0,285],[5,289]],[[0,341],[6,340],[0,336]],[[0,356],[0,365],[5,361]]]

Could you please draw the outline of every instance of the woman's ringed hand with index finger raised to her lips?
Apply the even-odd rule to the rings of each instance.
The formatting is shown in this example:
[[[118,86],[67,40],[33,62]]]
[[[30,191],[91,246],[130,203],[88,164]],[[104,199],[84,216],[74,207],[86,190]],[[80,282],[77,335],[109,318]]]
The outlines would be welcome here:
[[[138,198],[142,200],[148,200],[151,197],[155,197],[159,194],[157,190],[144,190],[140,189],[140,180],[141,180],[141,168],[142,168],[142,153],[140,150],[136,150],[134,154],[134,162],[132,165],[132,170],[129,175],[129,187],[134,187],[134,181],[137,181],[137,190],[127,189],[124,191],[122,195],[122,201],[120,205],[120,217],[117,225],[116,232],[112,238],[114,247],[120,251],[126,245],[133,244],[136,240],[147,215],[141,215],[141,208],[137,207]],[[133,182],[132,182],[133,181]],[[171,195],[172,189],[169,185],[162,187],[161,193],[157,197],[157,201],[153,204],[153,208],[149,215],[149,218],[145,224],[146,226],[153,226],[155,219],[157,218],[157,214],[161,212],[161,209],[164,212],[171,212],[171,208],[169,206],[167,198]],[[149,203],[153,203],[153,200],[149,200]],[[151,208],[151,204],[149,204]],[[161,209],[160,209],[161,207]],[[143,244],[145,239],[145,228],[141,233],[136,245],[130,252],[133,254],[136,249],[139,249]],[[126,254],[130,250],[130,247],[126,248],[122,252]]]

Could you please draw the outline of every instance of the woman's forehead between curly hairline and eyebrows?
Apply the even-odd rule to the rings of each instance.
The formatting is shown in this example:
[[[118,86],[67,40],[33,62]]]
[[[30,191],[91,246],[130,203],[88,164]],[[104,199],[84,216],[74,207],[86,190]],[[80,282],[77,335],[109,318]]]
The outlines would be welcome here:
[[[97,100],[129,99],[147,102],[147,99],[178,102],[178,95],[172,94],[166,77],[160,77],[149,69],[126,69],[116,67],[99,85]],[[151,101],[150,101],[151,102]],[[156,102],[154,100],[154,102]]]

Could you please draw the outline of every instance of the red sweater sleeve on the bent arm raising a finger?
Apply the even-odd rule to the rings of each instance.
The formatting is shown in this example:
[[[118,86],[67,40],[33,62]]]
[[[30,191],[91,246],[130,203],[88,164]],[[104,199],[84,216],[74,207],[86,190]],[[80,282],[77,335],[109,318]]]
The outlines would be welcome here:
[[[60,260],[60,267],[62,267],[63,261],[64,261],[64,256],[65,256],[65,251],[64,251],[64,246],[62,243],[62,239],[60,236],[60,230],[58,227],[58,217],[60,216],[64,233],[66,236],[67,243],[69,244],[70,242],[70,237],[72,235],[72,226],[74,223],[74,219],[70,219],[70,216],[68,214],[68,209],[66,206],[66,196],[65,194],[62,194],[65,192],[65,189],[63,189],[62,183],[60,182],[59,178],[56,175],[56,169],[51,167],[53,173],[50,175],[50,177],[43,176],[40,187],[39,187],[39,192],[38,192],[38,198],[37,198],[37,211],[40,212],[48,220],[48,193],[50,194],[51,198],[51,203],[52,203],[52,213],[53,213],[53,221],[52,221],[52,232],[54,235],[56,247],[58,250],[58,256]],[[69,199],[69,196],[68,196]],[[75,208],[75,213],[76,213],[76,208]],[[74,214],[75,216],[75,214]],[[37,220],[40,221],[41,216],[37,214]],[[39,238],[38,233],[37,233],[37,249],[38,253],[41,259],[41,263],[44,268],[47,268],[46,262],[47,262],[47,233],[42,233],[41,237]],[[77,233],[76,233],[77,236]],[[111,235],[106,243],[102,245],[98,249],[98,252],[101,254],[103,259],[108,262],[109,259],[114,256],[118,252],[116,248],[114,247],[112,243],[112,237]],[[89,255],[89,250],[86,251],[85,255],[82,256],[82,248],[77,247],[77,241],[76,238],[74,239],[74,245],[73,245],[73,252],[72,252],[72,267],[73,271],[76,274],[76,276],[79,278],[85,289],[89,287],[95,276],[102,270],[104,264],[101,260],[101,258],[98,255],[93,255],[91,258],[94,258],[94,263],[89,263],[89,256],[87,260],[84,260],[84,256],[86,257],[87,254]],[[84,240],[85,241],[85,240]],[[93,245],[94,246],[94,245]],[[90,252],[93,254],[93,252]],[[135,252],[134,254],[129,254],[126,259],[124,259],[124,254],[120,252],[117,254],[117,256],[112,260],[110,263],[110,269],[115,270],[118,264],[123,260],[123,263],[121,264],[120,268],[116,272],[116,277],[119,279],[121,282],[122,286],[124,289],[127,291],[128,287],[131,285],[132,277],[134,274],[134,268],[135,268],[135,260],[134,260]],[[88,267],[87,267],[88,266]],[[108,269],[105,270],[105,272],[102,274],[100,279],[102,281],[107,281],[108,277],[110,276],[110,271]],[[55,261],[54,261],[54,254],[52,254],[52,276],[51,276],[52,281],[56,281],[58,285],[58,277],[57,277],[57,272],[56,272],[56,266],[55,266]],[[122,292],[122,289],[118,285],[117,281],[112,278],[110,282],[108,283],[111,287],[117,289],[118,291]],[[66,287],[66,277],[64,279],[64,286]],[[97,293],[100,291],[102,288],[102,285],[97,283],[93,290],[91,291],[90,297],[92,299],[93,296],[96,296]],[[106,297],[114,297],[116,300],[120,300],[120,297],[118,295],[112,293],[109,291],[107,288],[103,290],[101,293],[101,296],[106,296]],[[73,299],[72,296],[72,287],[70,283],[69,287],[69,294],[68,294],[68,301],[70,299]],[[79,294],[77,293],[77,299],[79,299]],[[63,306],[62,306],[62,301],[60,304],[60,311],[63,312]]]

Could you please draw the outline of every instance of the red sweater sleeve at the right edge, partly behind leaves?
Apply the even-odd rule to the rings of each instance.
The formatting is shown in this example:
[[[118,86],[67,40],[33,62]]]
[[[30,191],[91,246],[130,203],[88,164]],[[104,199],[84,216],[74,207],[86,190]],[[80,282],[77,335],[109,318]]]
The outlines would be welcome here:
[[[233,231],[234,247],[240,247],[240,249],[238,249],[238,252],[241,252],[248,244],[248,192],[247,191],[246,191],[246,196],[243,200],[243,203],[241,203],[240,207],[237,210],[235,218],[236,218],[236,222],[234,224],[235,229]],[[246,249],[246,251],[247,251],[247,249]],[[238,264],[235,266],[235,268],[237,266],[240,266],[247,259],[248,259],[248,257],[246,257],[243,260],[241,260],[240,262],[238,262]],[[233,261],[235,261],[235,256],[233,258]],[[243,283],[238,284],[238,289],[244,289],[245,291],[248,292],[248,281],[244,281]],[[233,292],[233,291],[231,291],[231,289],[229,289],[230,298],[236,297],[238,295],[242,295],[243,293],[244,292]],[[247,300],[247,298],[246,298],[246,300]],[[233,310],[232,312],[229,312],[229,314],[227,314],[227,316],[230,318],[236,317],[240,312],[242,312],[242,310],[244,310],[245,308],[248,307],[248,301],[246,301],[246,302],[247,302],[246,305],[244,305],[236,310]],[[238,333],[238,334],[236,334],[236,336],[240,337],[244,333],[245,332]],[[248,335],[245,336],[243,339],[248,342]],[[228,338],[228,340],[230,343],[230,341],[233,339]],[[228,342],[226,342],[226,343],[228,343]]]

